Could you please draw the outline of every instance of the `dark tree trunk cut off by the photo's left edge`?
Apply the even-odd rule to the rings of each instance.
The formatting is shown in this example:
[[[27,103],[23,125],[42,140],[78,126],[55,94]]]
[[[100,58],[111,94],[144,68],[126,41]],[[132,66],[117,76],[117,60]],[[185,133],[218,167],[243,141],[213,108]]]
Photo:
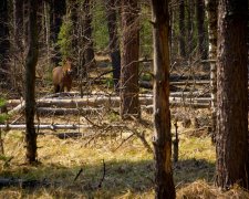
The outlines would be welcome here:
[[[7,54],[10,48],[8,40],[9,28],[8,28],[8,1],[0,1],[0,78],[7,81],[8,66],[7,66]]]

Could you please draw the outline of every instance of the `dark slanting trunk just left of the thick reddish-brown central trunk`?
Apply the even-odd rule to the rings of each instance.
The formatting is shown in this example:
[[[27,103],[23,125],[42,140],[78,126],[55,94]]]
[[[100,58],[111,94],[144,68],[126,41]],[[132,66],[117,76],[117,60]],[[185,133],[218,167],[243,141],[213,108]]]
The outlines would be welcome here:
[[[114,88],[118,91],[118,82],[121,77],[121,52],[117,36],[117,20],[116,20],[116,1],[117,0],[104,0],[106,7],[108,38],[110,38],[110,55],[113,66],[113,81]]]

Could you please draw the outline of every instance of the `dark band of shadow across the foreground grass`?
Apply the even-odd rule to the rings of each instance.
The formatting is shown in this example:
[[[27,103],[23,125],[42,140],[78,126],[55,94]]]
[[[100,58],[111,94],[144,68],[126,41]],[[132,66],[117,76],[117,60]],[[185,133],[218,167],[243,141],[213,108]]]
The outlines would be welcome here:
[[[174,164],[174,179],[177,188],[198,179],[214,180],[215,165],[204,159],[179,160]],[[135,195],[153,192],[153,160],[118,161],[111,160],[82,167],[60,165],[20,166],[18,169],[3,171],[1,177],[40,181],[39,186],[25,186],[27,192],[45,189],[53,197],[101,197],[112,198],[129,191]]]

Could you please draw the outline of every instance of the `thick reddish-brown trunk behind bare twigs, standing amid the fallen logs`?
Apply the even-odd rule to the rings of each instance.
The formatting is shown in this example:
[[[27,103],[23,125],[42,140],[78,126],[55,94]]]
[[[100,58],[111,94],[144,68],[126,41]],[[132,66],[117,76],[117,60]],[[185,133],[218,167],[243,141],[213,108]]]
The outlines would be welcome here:
[[[122,0],[121,116],[141,117],[138,101],[139,25],[136,0]]]

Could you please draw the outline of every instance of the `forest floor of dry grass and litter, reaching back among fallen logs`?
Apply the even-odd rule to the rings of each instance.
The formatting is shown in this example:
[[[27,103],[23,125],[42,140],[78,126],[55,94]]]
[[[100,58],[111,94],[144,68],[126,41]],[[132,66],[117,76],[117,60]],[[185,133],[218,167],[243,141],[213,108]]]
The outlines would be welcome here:
[[[51,85],[45,88],[41,91],[52,90]],[[91,88],[95,93],[112,92],[108,82],[104,87]],[[179,136],[178,161],[173,164],[177,198],[249,198],[238,186],[226,192],[214,186],[216,155],[208,134],[210,109],[180,106],[170,111],[173,140],[175,124]],[[11,121],[22,123],[23,115]],[[0,198],[154,198],[151,112],[143,109],[139,122],[123,122],[112,109],[87,116],[42,115],[37,122],[94,127],[40,129],[39,163],[33,166],[25,164],[24,129],[2,130]]]

